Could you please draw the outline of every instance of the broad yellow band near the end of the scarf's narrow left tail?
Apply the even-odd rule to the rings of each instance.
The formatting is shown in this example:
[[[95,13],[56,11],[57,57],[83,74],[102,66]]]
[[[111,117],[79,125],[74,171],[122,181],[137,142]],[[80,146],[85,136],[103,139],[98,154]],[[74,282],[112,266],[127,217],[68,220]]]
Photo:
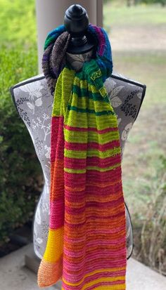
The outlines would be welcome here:
[[[63,253],[63,234],[64,226],[56,230],[49,228],[49,236],[44,252],[44,260],[46,262],[55,263]]]

